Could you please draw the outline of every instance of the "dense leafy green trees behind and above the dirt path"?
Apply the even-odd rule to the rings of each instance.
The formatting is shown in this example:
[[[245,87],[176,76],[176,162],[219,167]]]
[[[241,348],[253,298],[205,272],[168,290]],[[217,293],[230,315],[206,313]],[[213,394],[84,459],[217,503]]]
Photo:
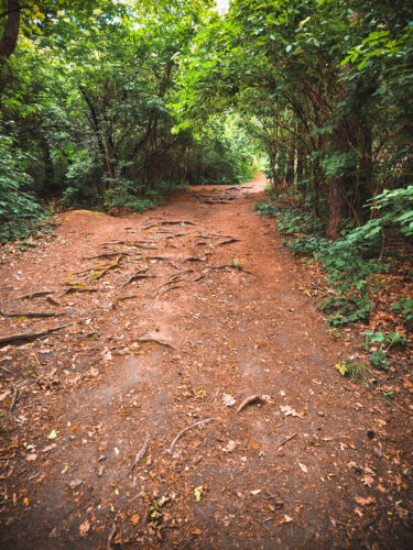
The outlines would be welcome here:
[[[260,153],[320,235],[351,231],[365,249],[411,235],[412,12],[3,0],[1,240],[30,233],[52,199],[141,211],[183,185],[247,180]]]

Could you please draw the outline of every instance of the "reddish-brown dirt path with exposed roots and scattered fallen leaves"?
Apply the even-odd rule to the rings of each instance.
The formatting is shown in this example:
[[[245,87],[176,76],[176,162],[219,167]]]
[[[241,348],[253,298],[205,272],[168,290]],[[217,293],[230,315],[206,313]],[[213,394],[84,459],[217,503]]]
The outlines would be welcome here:
[[[1,548],[412,542],[411,416],[335,370],[351,346],[252,212],[262,189],[66,213],[4,256],[0,302],[21,317],[0,336],[72,324],[0,348]],[[45,289],[55,304],[18,299]]]

